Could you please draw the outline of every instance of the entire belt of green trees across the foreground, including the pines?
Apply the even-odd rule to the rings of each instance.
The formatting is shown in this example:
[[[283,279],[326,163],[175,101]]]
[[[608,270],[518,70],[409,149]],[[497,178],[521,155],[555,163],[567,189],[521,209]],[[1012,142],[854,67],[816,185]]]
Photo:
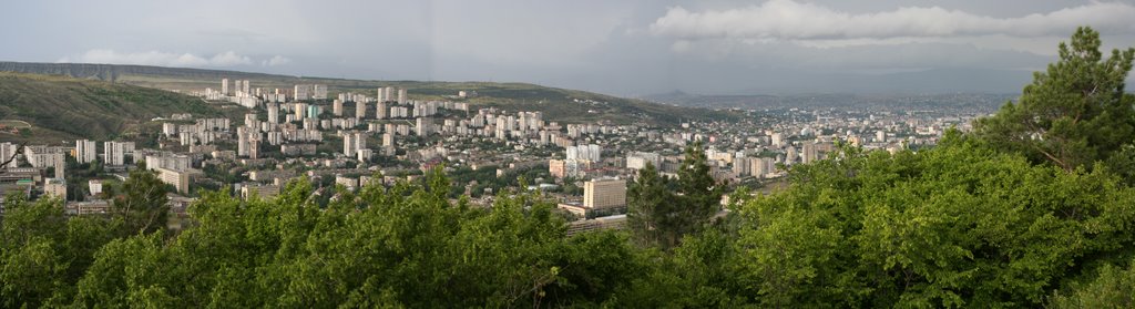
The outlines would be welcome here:
[[[1135,307],[1135,50],[1081,28],[1017,102],[939,147],[842,145],[791,185],[726,192],[687,149],[642,169],[625,231],[568,235],[538,192],[491,208],[449,179],[278,197],[207,192],[165,228],[152,174],[111,215],[9,198],[2,307]],[[523,183],[521,181],[521,183]]]

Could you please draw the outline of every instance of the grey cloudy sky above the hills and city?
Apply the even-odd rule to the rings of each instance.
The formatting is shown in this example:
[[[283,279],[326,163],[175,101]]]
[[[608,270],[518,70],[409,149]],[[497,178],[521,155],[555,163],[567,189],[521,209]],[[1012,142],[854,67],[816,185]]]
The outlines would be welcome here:
[[[43,0],[5,10],[0,60],[627,97],[1015,93],[1077,26],[1108,50],[1135,47],[1135,0]]]

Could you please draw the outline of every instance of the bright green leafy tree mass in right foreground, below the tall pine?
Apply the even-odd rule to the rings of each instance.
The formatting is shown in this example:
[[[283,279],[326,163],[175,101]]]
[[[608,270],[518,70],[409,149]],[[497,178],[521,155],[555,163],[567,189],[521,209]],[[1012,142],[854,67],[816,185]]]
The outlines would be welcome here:
[[[738,209],[737,261],[764,306],[1039,306],[1077,266],[1130,251],[1135,190],[949,136],[844,151]]]

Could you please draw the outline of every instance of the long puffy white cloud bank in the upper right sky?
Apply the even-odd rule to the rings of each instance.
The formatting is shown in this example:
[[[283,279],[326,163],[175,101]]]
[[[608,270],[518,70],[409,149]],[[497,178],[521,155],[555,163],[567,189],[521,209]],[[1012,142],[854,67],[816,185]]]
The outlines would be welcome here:
[[[890,11],[850,14],[831,8],[770,0],[760,6],[689,11],[673,7],[649,27],[655,35],[683,40],[856,40],[1009,35],[1066,36],[1090,25],[1104,34],[1135,33],[1135,6],[1119,2],[1087,5],[997,18],[941,7],[902,7]]]

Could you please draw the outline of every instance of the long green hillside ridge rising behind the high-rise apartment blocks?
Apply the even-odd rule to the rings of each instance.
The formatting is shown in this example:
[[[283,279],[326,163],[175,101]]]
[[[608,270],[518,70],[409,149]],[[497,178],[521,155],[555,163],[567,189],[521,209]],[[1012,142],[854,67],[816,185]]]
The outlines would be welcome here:
[[[526,83],[487,82],[414,82],[361,81],[342,78],[299,77],[260,73],[94,64],[28,64],[0,61],[0,72],[61,74],[78,78],[101,80],[174,91],[219,89],[221,78],[249,80],[253,87],[288,89],[295,84],[327,84],[329,95],[355,92],[375,95],[378,86],[404,87],[413,99],[455,100],[457,91],[476,91],[466,101],[474,107],[497,107],[506,110],[539,110],[553,122],[595,122],[619,124],[644,123],[676,125],[680,120],[709,120],[738,117],[729,111],[705,108],[674,107],[646,100],[625,99],[586,91],[547,87]],[[577,99],[583,102],[577,102]]]

